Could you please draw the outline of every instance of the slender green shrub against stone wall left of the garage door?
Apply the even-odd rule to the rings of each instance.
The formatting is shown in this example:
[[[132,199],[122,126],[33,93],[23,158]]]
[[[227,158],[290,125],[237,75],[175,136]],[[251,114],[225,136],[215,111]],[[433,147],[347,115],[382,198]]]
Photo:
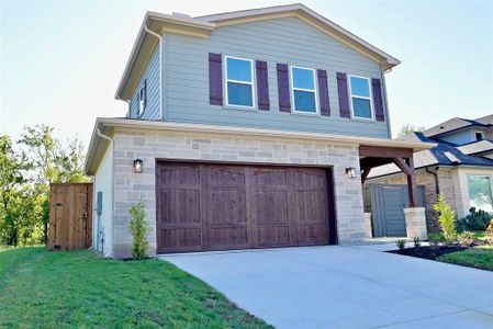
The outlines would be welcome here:
[[[132,256],[134,259],[144,259],[146,257],[149,242],[147,241],[147,234],[150,228],[146,224],[146,212],[144,203],[141,201],[130,208],[130,232],[133,237]]]

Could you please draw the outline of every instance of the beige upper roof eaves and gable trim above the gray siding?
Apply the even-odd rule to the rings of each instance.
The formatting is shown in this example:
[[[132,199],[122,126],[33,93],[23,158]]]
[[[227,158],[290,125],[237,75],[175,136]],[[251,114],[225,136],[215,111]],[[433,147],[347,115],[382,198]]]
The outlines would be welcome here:
[[[400,64],[399,59],[390,56],[300,3],[243,10],[199,18],[189,18],[183,14],[167,15],[147,12],[120,80],[115,98],[122,100],[130,99],[150,58],[150,53],[157,44],[157,38],[149,35],[146,32],[146,27],[159,35],[163,35],[163,33],[178,33],[194,37],[209,37],[213,30],[220,29],[221,26],[290,16],[299,18],[322,32],[329,34],[339,42],[379,63],[384,70],[391,69]]]

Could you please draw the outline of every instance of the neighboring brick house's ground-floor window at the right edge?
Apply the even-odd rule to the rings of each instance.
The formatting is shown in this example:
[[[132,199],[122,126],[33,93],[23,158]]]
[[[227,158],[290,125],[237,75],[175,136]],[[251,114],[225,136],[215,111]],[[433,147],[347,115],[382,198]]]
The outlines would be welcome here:
[[[491,177],[468,174],[469,206],[493,213]]]

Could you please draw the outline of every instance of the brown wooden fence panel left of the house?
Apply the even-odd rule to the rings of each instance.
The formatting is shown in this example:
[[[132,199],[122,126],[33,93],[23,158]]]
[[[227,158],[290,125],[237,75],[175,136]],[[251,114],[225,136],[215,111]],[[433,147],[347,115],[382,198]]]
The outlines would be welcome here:
[[[87,249],[92,242],[92,183],[52,184],[49,250]]]

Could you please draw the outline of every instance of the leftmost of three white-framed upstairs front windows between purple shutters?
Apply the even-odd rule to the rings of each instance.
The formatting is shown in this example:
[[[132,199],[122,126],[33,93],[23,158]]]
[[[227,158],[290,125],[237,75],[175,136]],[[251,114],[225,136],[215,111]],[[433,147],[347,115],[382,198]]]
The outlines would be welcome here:
[[[255,107],[254,65],[250,59],[225,56],[226,105]]]

